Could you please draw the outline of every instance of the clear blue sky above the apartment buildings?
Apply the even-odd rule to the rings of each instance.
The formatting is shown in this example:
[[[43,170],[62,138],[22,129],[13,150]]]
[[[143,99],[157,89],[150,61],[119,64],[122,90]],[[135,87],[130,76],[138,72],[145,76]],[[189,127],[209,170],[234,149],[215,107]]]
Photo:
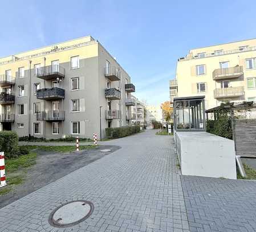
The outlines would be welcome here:
[[[256,38],[256,1],[1,1],[0,57],[92,35],[117,58],[136,96],[169,100],[188,50]]]

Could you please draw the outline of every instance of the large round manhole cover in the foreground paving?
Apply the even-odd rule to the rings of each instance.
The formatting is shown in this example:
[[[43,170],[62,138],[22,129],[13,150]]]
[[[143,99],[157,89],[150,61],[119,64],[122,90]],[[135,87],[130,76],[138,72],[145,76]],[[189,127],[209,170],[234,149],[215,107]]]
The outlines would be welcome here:
[[[74,226],[92,214],[94,205],[90,201],[70,201],[51,212],[49,223],[55,227]]]

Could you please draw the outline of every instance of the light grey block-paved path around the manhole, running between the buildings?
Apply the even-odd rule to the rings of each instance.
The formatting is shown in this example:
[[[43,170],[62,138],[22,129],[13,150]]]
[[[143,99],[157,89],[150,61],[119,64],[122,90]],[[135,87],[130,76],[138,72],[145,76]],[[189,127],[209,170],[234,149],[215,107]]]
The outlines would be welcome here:
[[[122,148],[3,207],[1,232],[188,232],[171,138],[148,130],[109,141]],[[51,227],[51,211],[72,200],[91,201],[94,212],[79,225]]]

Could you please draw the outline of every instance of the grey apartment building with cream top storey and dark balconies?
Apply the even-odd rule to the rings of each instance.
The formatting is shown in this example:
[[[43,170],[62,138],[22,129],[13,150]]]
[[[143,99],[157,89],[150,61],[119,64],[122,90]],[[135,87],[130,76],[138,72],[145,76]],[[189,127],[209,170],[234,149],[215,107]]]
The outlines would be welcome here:
[[[19,136],[104,137],[131,124],[135,104],[131,78],[91,36],[0,58],[0,88],[1,130]]]

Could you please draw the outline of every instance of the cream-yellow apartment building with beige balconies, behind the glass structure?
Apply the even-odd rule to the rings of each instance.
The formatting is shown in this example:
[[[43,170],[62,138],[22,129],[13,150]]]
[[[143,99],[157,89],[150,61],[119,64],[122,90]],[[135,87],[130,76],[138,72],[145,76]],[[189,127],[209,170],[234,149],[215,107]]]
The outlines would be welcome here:
[[[190,50],[170,80],[173,97],[205,95],[206,109],[224,101],[256,101],[256,39]]]

